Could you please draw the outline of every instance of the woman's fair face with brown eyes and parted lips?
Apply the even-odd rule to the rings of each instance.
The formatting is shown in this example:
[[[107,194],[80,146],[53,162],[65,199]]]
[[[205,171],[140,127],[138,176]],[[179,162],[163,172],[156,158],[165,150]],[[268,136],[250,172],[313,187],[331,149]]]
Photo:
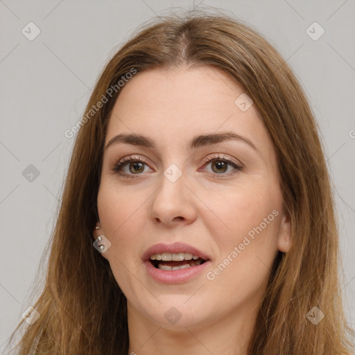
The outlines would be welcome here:
[[[98,215],[129,319],[176,329],[250,318],[288,250],[275,150],[241,94],[210,67],[146,71],[121,88]],[[191,254],[205,261],[191,266]]]

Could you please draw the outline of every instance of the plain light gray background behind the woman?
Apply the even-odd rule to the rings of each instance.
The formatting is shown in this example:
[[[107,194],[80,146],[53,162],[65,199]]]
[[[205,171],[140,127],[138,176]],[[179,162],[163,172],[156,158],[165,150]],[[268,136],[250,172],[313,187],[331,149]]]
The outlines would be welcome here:
[[[83,114],[107,58],[139,24],[171,8],[193,6],[224,8],[247,21],[276,46],[300,79],[320,123],[334,179],[343,294],[348,320],[355,325],[354,0],[0,0],[0,352],[31,306],[31,286],[73,144],[64,131]],[[41,31],[32,41],[21,33],[27,28],[33,35],[34,28],[26,26],[30,21]],[[314,21],[325,31],[318,40],[306,33]],[[319,28],[310,31],[320,33]],[[26,175],[33,170],[30,164],[40,175]]]

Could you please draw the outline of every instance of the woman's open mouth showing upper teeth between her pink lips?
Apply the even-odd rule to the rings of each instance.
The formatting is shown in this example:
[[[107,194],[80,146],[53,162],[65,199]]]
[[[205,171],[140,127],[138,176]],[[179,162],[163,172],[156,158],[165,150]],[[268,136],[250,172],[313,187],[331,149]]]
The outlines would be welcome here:
[[[162,253],[152,254],[150,256],[150,263],[152,263],[155,268],[166,271],[193,268],[193,266],[201,265],[205,263],[205,261],[205,259],[198,257],[198,255],[190,253]]]

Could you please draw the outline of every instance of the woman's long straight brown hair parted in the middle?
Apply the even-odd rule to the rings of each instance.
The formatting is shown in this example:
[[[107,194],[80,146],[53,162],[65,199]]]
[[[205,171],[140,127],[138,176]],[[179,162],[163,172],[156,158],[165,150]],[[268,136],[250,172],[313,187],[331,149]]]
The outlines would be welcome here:
[[[125,295],[92,245],[103,143],[112,107],[124,89],[117,87],[120,78],[132,69],[180,65],[207,65],[234,78],[254,101],[277,153],[293,245],[277,254],[248,354],[351,354],[352,330],[338,280],[334,196],[302,87],[282,56],[250,26],[222,13],[192,11],[140,28],[98,78],[73,147],[44,290],[33,305],[40,318],[26,328],[19,355],[128,354]],[[103,96],[107,102],[90,113]],[[314,306],[325,315],[317,325],[306,316]],[[24,320],[14,334],[21,325]]]

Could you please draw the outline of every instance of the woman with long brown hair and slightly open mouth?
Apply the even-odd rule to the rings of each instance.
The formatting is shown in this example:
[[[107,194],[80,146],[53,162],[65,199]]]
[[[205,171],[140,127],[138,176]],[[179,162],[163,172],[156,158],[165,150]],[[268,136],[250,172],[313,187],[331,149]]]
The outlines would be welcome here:
[[[261,35],[156,20],[78,128],[18,354],[351,354],[318,128]]]

